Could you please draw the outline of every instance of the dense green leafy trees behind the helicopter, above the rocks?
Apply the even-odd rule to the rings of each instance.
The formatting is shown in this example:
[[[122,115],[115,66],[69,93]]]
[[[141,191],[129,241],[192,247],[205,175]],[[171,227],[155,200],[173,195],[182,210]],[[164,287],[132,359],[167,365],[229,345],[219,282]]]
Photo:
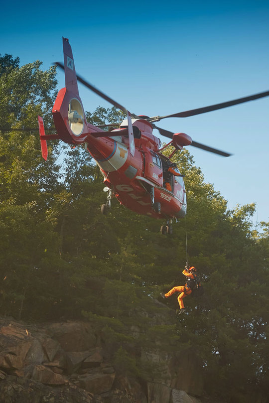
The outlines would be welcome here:
[[[208,391],[266,396],[269,224],[252,229],[254,204],[227,210],[186,149],[173,159],[185,174],[188,213],[172,236],[161,236],[157,220],[117,201],[102,216],[103,177],[82,147],[59,151],[51,142],[47,162],[41,158],[37,115],[52,127],[55,74],[53,67],[42,71],[39,61],[19,67],[18,58],[0,57],[1,315],[95,321],[117,351],[118,368],[142,377],[143,363],[127,354],[134,345],[195,346]],[[87,118],[108,124],[121,114],[99,107]],[[184,283],[185,228],[188,261],[205,294],[186,298],[188,313],[180,321],[174,316],[152,326],[142,312],[153,314],[159,292]],[[165,303],[177,308],[175,296]],[[128,335],[131,324],[142,326],[142,337]]]

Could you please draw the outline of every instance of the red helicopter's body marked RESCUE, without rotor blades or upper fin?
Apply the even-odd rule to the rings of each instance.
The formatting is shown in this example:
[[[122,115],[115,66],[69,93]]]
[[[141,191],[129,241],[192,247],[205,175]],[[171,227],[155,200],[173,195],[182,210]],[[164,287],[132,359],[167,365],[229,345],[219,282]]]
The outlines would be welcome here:
[[[104,184],[130,210],[157,219],[184,217],[187,204],[184,181],[182,177],[174,177],[172,191],[166,189],[163,168],[169,160],[158,151],[160,140],[152,134],[151,124],[144,119],[132,120],[133,156],[129,149],[127,121],[111,132],[104,132],[86,120],[70,124],[67,111],[75,101],[77,109],[79,105],[82,108],[78,94],[66,88],[59,91],[52,110],[58,138],[70,144],[84,144],[98,164]],[[79,112],[84,115],[84,111]],[[154,203],[160,204],[160,211],[156,211]]]

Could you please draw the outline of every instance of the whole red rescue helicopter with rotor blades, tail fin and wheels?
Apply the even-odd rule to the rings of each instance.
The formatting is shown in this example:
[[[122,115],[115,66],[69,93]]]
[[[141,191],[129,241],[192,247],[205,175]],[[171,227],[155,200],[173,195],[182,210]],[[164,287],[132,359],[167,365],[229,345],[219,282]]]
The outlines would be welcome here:
[[[121,204],[138,214],[165,219],[166,225],[161,226],[161,234],[171,234],[173,219],[185,217],[187,209],[182,176],[167,175],[172,155],[186,145],[222,156],[231,154],[193,141],[187,134],[161,129],[154,122],[164,118],[189,117],[252,101],[268,96],[269,91],[173,115],[152,118],[137,116],[76,75],[72,49],[67,38],[63,38],[63,53],[64,65],[59,62],[56,64],[64,69],[65,87],[59,91],[52,109],[57,134],[45,135],[43,120],[38,117],[43,158],[47,159],[47,139],[58,138],[69,144],[83,144],[104,176],[104,191],[108,196],[107,202],[101,206],[102,213],[108,212],[112,198],[116,197]],[[126,113],[127,119],[120,128],[105,132],[101,127],[87,123],[79,96],[78,81]],[[152,134],[153,129],[171,138],[171,141],[160,148],[161,141]],[[168,145],[173,146],[174,150],[166,157],[161,151]],[[175,171],[180,174],[177,168]],[[167,182],[170,186],[167,186]]]

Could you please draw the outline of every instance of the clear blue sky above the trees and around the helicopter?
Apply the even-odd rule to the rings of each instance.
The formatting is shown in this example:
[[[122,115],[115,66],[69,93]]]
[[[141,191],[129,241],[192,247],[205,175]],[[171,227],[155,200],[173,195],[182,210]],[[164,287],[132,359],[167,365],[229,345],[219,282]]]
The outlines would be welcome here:
[[[168,115],[269,90],[269,1],[9,1],[0,53],[21,64],[62,61],[68,37],[78,74],[126,106]],[[64,76],[58,73],[59,88]],[[84,108],[110,105],[81,88]],[[159,126],[230,151],[189,147],[228,208],[257,203],[269,221],[269,97]],[[158,133],[155,133],[158,135]],[[164,141],[164,138],[161,138]]]

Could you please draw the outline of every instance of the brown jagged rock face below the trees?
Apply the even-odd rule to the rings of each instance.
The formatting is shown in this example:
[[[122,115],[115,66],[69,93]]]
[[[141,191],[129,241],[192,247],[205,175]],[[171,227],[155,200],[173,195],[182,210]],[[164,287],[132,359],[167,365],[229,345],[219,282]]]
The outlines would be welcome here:
[[[203,393],[200,363],[191,350],[163,355],[156,348],[140,355],[163,368],[147,384],[116,373],[106,345],[89,322],[37,328],[0,318],[0,402],[199,402],[190,396]]]

